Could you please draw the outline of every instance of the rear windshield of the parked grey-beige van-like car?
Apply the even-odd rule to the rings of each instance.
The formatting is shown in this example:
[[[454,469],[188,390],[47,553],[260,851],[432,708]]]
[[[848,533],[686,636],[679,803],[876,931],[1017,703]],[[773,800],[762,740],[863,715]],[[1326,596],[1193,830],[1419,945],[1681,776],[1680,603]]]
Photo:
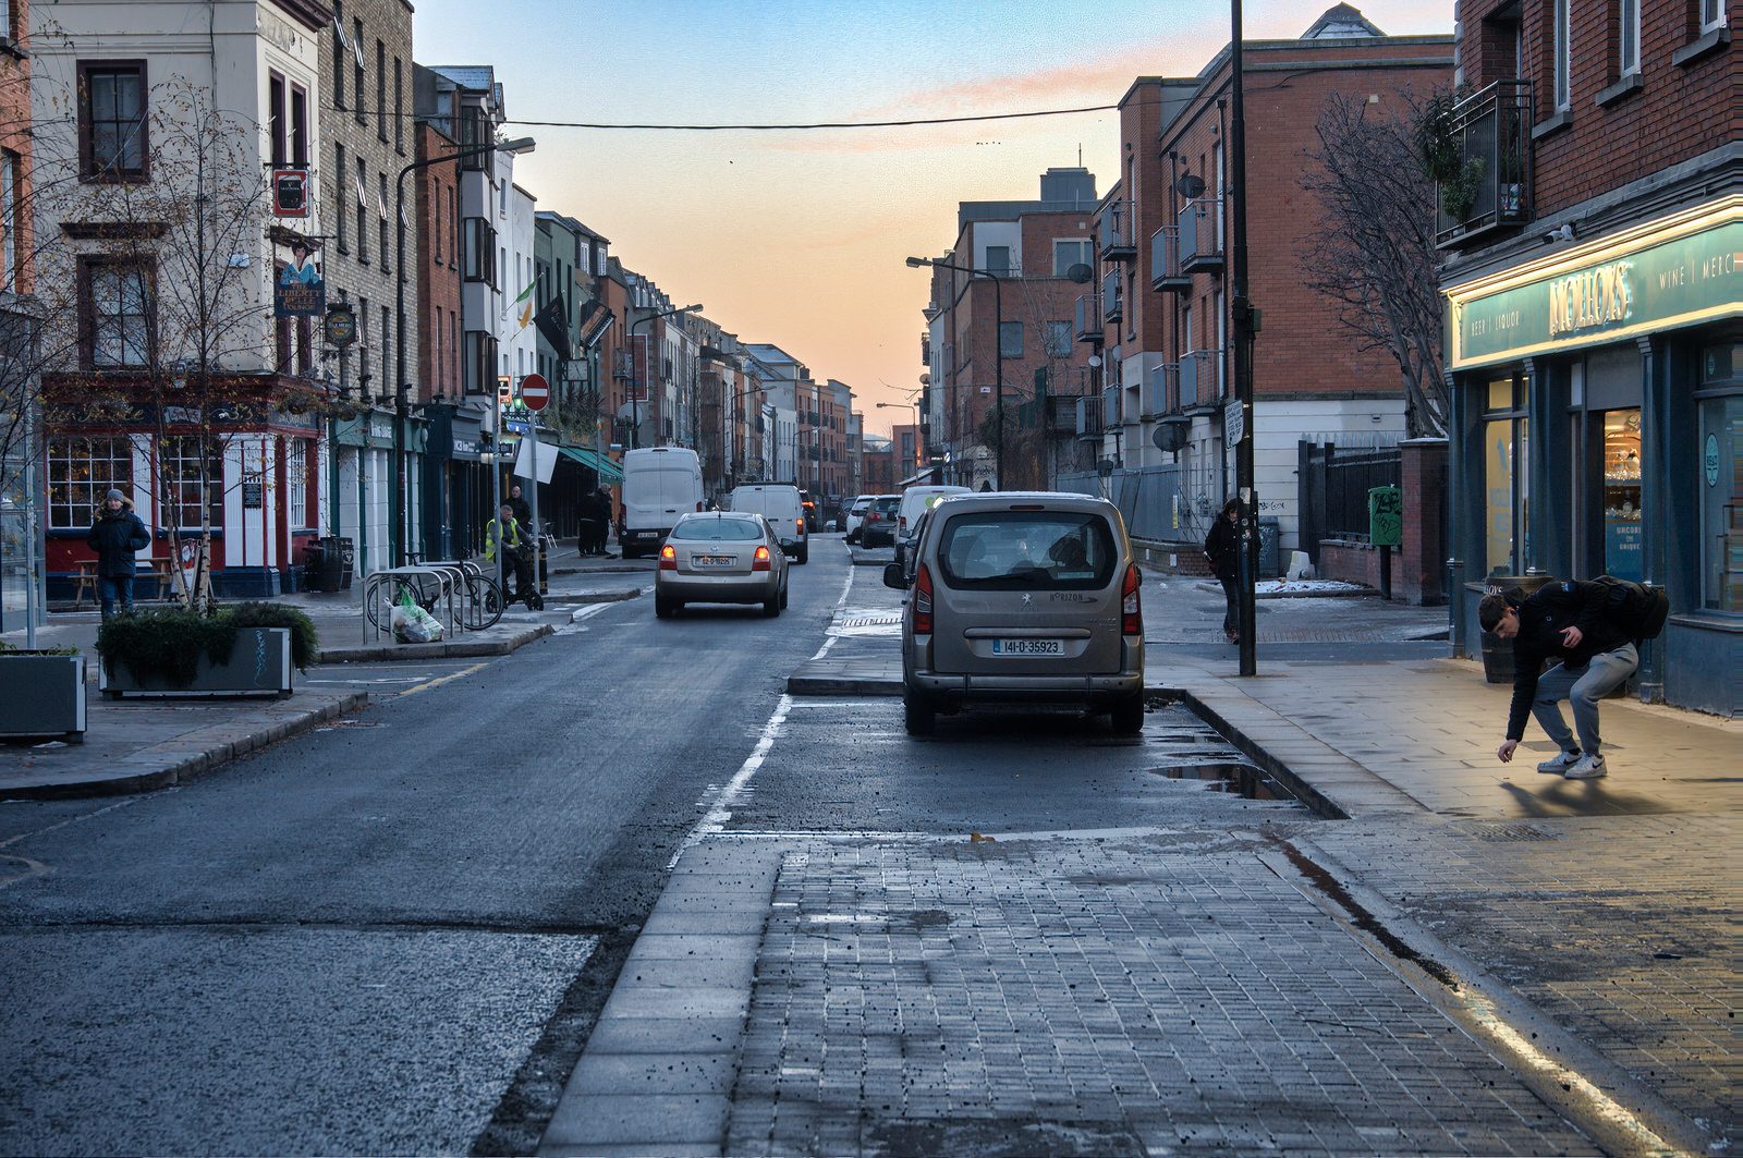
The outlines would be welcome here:
[[[1114,579],[1114,530],[1077,511],[976,511],[945,521],[938,567],[969,591],[1096,591]]]

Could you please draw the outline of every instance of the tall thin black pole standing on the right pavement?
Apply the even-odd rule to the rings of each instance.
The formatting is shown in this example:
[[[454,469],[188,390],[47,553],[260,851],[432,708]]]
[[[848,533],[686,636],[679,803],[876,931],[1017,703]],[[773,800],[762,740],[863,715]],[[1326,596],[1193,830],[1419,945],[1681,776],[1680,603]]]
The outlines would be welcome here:
[[[1253,488],[1253,303],[1246,298],[1246,110],[1243,91],[1241,0],[1229,0],[1229,321],[1234,337],[1234,398],[1241,408],[1241,438],[1234,445],[1234,483],[1241,497],[1241,675],[1258,673],[1253,582],[1258,577],[1258,494]],[[1232,213],[1229,201],[1234,201]]]

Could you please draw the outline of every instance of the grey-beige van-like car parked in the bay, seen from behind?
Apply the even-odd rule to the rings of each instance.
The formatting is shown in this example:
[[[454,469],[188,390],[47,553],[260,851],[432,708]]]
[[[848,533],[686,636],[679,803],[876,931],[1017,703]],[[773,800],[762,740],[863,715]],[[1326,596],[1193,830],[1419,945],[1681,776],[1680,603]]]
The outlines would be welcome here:
[[[976,705],[1109,712],[1143,727],[1142,576],[1119,507],[1056,492],[939,499],[910,567],[901,619],[908,732]],[[912,576],[912,579],[910,579]]]

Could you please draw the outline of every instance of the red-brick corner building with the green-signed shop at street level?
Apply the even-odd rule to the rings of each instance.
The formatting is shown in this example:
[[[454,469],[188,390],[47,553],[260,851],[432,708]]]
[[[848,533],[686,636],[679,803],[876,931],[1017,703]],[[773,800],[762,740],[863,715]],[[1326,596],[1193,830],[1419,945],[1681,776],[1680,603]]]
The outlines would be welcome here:
[[[1673,616],[1640,694],[1743,708],[1743,106],[1719,0],[1464,0],[1443,124],[1454,645],[1497,576]],[[1462,192],[1462,190],[1457,190]]]

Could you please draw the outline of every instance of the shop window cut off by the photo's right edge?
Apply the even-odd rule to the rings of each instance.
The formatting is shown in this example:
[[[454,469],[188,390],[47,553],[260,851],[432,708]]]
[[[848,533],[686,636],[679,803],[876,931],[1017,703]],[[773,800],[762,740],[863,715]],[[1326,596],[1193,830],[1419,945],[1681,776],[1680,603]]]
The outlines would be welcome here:
[[[1706,351],[1701,399],[1701,607],[1743,614],[1743,384],[1740,345]]]

